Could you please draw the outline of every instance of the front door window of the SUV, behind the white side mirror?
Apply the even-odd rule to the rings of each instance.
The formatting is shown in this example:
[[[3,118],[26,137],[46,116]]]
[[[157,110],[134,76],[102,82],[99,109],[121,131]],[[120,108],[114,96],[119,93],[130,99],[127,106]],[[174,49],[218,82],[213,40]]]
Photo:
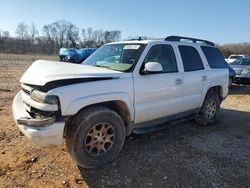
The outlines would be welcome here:
[[[162,66],[162,73],[178,72],[177,62],[172,46],[157,44],[149,50],[144,64],[147,62],[157,62]]]

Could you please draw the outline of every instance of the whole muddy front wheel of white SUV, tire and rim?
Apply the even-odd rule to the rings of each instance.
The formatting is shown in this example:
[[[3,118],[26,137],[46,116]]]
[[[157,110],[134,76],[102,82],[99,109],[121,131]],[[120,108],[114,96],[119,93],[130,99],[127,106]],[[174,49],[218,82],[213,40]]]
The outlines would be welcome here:
[[[67,149],[83,168],[97,168],[112,161],[121,151],[124,140],[122,118],[115,111],[101,106],[80,112],[66,131]]]

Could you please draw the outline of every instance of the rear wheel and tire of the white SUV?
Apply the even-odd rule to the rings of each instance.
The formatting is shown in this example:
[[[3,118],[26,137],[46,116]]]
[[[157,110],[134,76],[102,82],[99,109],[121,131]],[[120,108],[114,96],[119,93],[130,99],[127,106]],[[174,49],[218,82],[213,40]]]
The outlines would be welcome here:
[[[201,125],[212,125],[217,121],[217,114],[220,109],[221,100],[214,90],[208,91],[196,122]]]

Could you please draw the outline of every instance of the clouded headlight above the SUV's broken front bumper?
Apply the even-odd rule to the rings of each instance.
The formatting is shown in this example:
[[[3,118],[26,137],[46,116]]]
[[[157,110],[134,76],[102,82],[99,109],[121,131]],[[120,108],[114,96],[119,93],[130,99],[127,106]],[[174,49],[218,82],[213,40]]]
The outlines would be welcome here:
[[[55,95],[47,95],[38,90],[32,90],[30,93],[30,97],[41,103],[48,103],[48,104],[58,104],[58,97]]]

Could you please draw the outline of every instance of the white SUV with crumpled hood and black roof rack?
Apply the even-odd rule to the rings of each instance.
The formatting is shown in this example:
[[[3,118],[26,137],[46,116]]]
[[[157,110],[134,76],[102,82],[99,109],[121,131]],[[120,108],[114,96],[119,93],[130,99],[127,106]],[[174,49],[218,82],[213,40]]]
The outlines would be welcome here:
[[[77,164],[94,168],[114,159],[132,132],[187,117],[215,123],[228,68],[212,42],[171,36],[106,44],[82,64],[38,60],[21,86],[13,102],[19,129],[41,146],[65,138]]]

